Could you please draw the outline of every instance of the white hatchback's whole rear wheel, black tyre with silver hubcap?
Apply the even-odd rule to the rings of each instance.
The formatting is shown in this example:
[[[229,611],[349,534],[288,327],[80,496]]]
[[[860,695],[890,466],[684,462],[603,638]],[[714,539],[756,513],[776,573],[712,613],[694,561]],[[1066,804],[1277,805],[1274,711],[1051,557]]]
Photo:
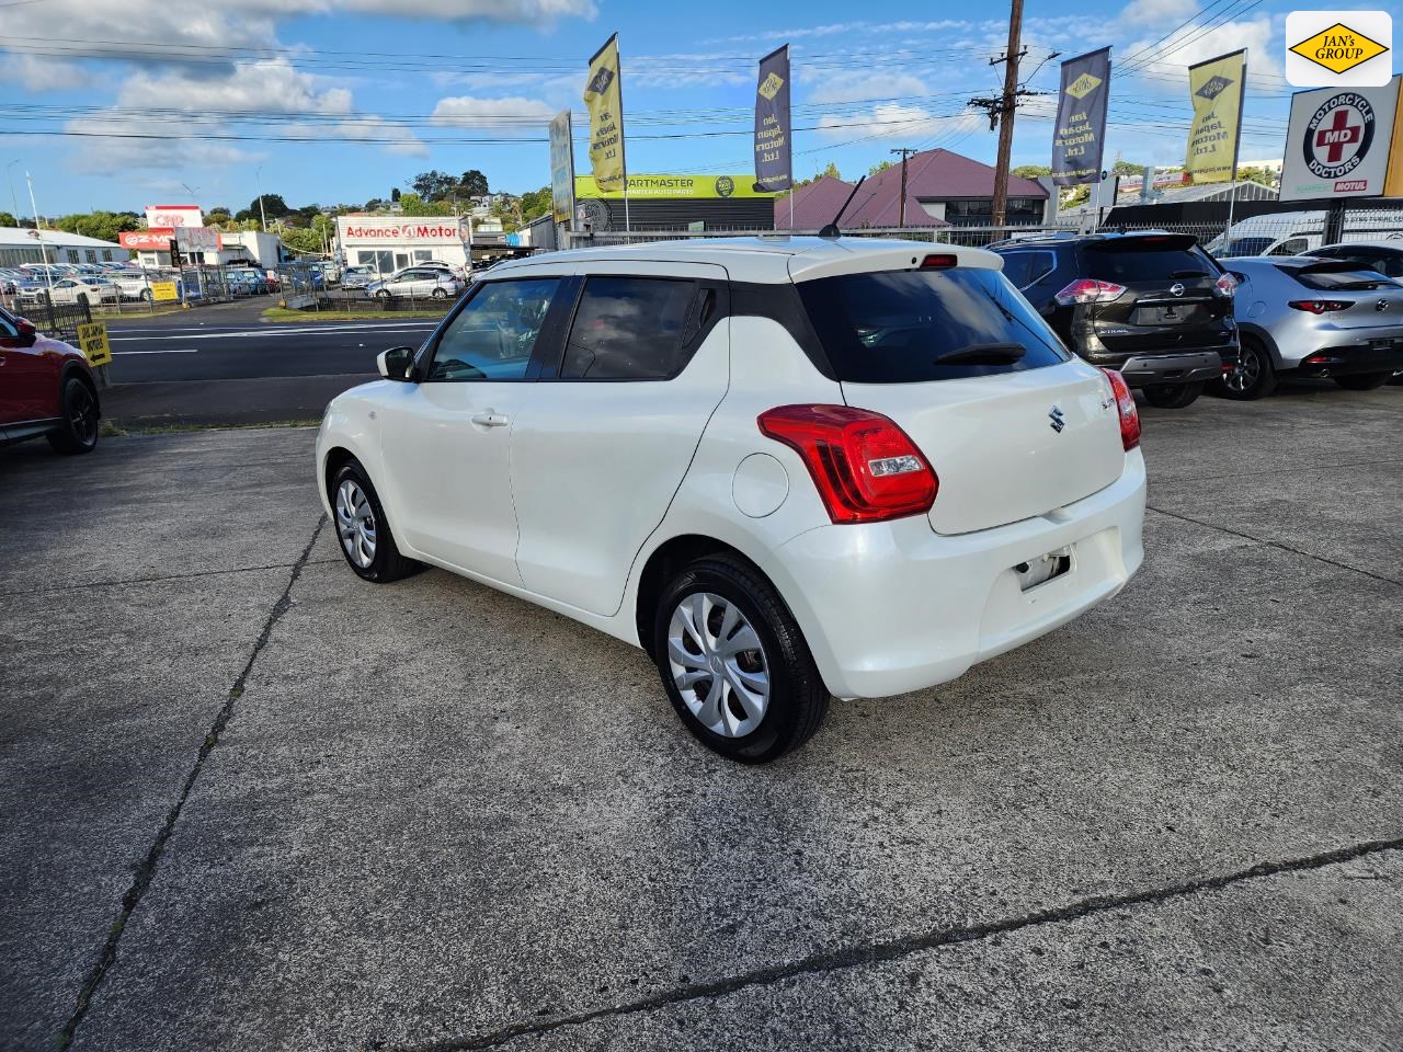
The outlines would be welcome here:
[[[759,647],[728,656],[725,644],[746,630]],[[686,728],[741,763],[797,749],[828,711],[828,689],[788,607],[753,567],[730,555],[692,562],[662,591],[652,654]]]

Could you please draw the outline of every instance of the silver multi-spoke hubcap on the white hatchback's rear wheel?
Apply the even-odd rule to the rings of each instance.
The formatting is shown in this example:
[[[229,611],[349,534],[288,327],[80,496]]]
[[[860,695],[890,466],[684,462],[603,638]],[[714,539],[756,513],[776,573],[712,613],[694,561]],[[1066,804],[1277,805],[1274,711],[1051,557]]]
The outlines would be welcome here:
[[[703,727],[744,738],[770,706],[760,637],[745,614],[713,592],[682,599],[668,623],[668,666],[682,701]]]

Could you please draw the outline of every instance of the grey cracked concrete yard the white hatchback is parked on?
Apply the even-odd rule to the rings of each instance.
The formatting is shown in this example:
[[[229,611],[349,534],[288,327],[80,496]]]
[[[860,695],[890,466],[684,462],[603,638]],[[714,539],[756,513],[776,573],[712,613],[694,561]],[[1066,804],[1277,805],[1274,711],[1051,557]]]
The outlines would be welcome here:
[[[762,769],[310,431],[0,450],[0,1048],[1397,1052],[1400,415],[1148,414],[1120,596]]]

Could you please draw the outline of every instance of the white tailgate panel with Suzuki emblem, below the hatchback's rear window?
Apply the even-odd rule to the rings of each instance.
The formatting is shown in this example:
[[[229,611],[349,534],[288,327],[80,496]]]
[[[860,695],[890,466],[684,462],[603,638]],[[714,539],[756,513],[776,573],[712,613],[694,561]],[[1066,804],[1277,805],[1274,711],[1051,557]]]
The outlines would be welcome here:
[[[1125,468],[1110,386],[1080,362],[929,383],[843,382],[894,419],[940,478],[937,533],[969,533],[1090,497]],[[1058,429],[1061,425],[1061,429]]]

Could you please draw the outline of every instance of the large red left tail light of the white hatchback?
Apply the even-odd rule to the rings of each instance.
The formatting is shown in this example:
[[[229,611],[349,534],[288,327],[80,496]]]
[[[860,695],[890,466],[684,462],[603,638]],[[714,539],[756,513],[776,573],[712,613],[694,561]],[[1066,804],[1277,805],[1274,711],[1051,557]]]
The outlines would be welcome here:
[[[828,518],[884,522],[930,511],[940,480],[916,443],[880,412],[850,405],[779,405],[760,431],[803,459]]]

